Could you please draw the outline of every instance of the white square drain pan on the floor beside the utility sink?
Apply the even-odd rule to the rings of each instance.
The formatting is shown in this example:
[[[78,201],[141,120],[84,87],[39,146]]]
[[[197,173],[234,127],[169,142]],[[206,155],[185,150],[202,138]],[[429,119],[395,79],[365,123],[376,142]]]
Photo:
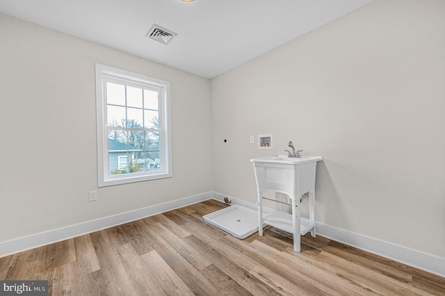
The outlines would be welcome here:
[[[242,240],[258,231],[258,212],[237,204],[204,215],[202,218],[205,222]]]

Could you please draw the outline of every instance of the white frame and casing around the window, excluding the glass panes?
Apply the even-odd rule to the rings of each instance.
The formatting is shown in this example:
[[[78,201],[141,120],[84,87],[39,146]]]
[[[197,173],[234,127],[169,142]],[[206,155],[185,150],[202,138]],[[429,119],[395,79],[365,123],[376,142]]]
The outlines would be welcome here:
[[[159,98],[159,133],[161,170],[132,174],[109,175],[108,168],[108,120],[106,101],[106,81],[115,79],[126,85],[140,85],[141,88],[154,87],[161,90]],[[172,148],[170,133],[170,82],[155,79],[143,74],[129,72],[115,67],[96,63],[96,118],[97,118],[97,186],[114,186],[140,181],[172,177]]]

